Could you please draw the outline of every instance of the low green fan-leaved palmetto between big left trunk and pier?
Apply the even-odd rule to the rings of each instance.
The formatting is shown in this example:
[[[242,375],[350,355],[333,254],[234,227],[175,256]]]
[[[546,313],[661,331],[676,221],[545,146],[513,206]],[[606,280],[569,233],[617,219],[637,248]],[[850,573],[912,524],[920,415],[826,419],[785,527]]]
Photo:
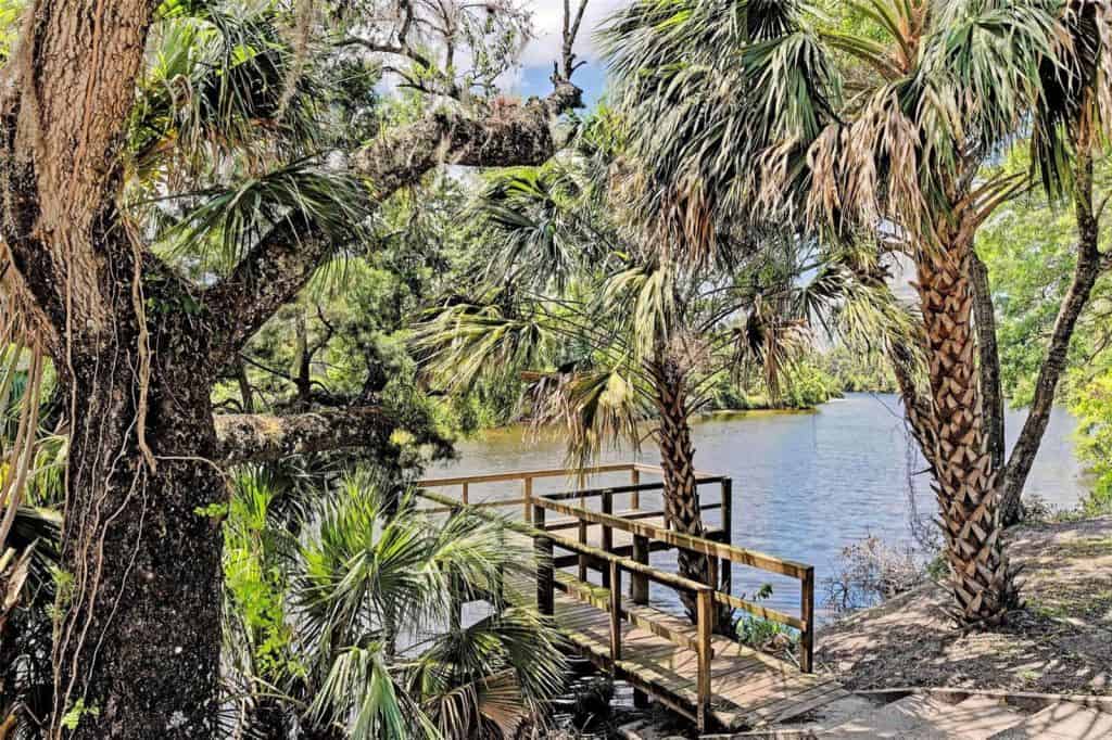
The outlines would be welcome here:
[[[563,683],[556,632],[502,588],[530,557],[497,522],[390,504],[349,479],[299,553],[292,599],[317,687],[308,718],[355,739],[513,737]],[[489,616],[454,624],[459,602],[477,598]]]

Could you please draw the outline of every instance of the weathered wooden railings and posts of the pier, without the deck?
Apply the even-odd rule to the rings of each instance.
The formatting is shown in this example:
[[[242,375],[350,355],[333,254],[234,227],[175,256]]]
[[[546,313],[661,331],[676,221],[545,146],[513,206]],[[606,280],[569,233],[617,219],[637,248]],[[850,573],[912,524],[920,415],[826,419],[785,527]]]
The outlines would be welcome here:
[[[421,481],[425,489],[421,496],[436,503],[436,508],[426,511],[456,511],[461,507],[477,509],[480,514],[487,513],[492,507],[516,507],[523,506],[526,520],[525,523],[504,521],[506,526],[522,534],[533,539],[534,549],[537,553],[536,574],[536,598],[537,608],[542,613],[552,614],[555,603],[555,591],[557,588],[565,588],[556,579],[555,550],[565,550],[574,553],[573,562],[577,557],[579,573],[578,580],[587,581],[587,570],[597,570],[600,573],[603,586],[609,589],[609,602],[596,604],[609,612],[610,619],[610,662],[616,668],[622,662],[622,630],[623,620],[635,623],[651,630],[658,637],[672,641],[684,649],[694,650],[698,657],[696,694],[697,704],[693,719],[701,728],[706,727],[707,712],[711,701],[711,662],[713,651],[711,647],[712,633],[716,620],[715,604],[722,604],[734,609],[741,609],[762,619],[787,624],[800,631],[800,668],[804,672],[812,671],[814,654],[814,568],[804,563],[776,558],[755,550],[734,547],[729,542],[729,531],[733,510],[733,490],[729,478],[721,476],[698,474],[701,486],[717,484],[721,487],[721,498],[717,502],[701,504],[703,511],[721,510],[722,530],[717,537],[723,540],[714,540],[703,537],[693,537],[662,527],[648,521],[653,517],[662,517],[659,511],[641,510],[639,496],[644,492],[659,491],[663,483],[642,483],[641,474],[644,472],[659,474],[659,468],[643,466],[637,463],[623,463],[613,466],[599,466],[585,471],[592,473],[615,473],[629,472],[631,484],[606,488],[594,488],[586,490],[574,490],[558,493],[536,494],[533,490],[533,480],[538,478],[567,477],[573,471],[568,470],[538,470],[514,473],[497,473],[488,476],[473,476],[460,478],[441,478]],[[505,482],[519,480],[523,484],[523,497],[519,499],[500,499],[495,501],[470,501],[470,484],[483,482]],[[460,499],[455,500],[446,496],[433,493],[429,488],[460,487]],[[629,496],[632,510],[622,512],[620,516],[614,511],[614,499],[616,496]],[[594,511],[587,508],[587,501],[598,500],[599,510]],[[573,506],[570,501],[577,500],[579,506]],[[553,512],[567,517],[565,521],[546,522],[547,512]],[[598,527],[600,530],[599,547],[594,547],[587,542],[587,528]],[[558,532],[566,529],[576,529],[577,537],[569,538]],[[632,537],[631,557],[625,557],[614,552],[614,531],[626,532]],[[683,549],[689,552],[706,556],[711,563],[709,579],[718,588],[683,578],[675,573],[653,568],[649,564],[649,553],[654,546],[667,549]],[[737,564],[747,568],[755,568],[772,573],[787,576],[801,582],[800,617],[794,617],[775,609],[741,599],[729,592],[732,566]],[[626,609],[622,603],[623,574],[629,574],[631,601],[634,609]],[[691,639],[689,634],[676,632],[667,627],[654,623],[643,611],[637,611],[636,607],[646,607],[648,603],[648,584],[655,582],[674,591],[686,592],[695,596],[696,601],[696,638]],[[659,697],[658,697],[659,698]],[[674,709],[685,711],[682,707],[674,706]]]

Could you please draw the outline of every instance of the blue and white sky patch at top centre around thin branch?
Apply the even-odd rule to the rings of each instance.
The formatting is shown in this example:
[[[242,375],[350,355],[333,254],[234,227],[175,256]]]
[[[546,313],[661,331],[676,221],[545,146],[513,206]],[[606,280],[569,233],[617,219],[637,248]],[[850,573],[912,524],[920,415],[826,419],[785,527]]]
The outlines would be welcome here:
[[[610,13],[626,4],[628,0],[589,0],[583,17],[583,26],[575,43],[575,53],[587,63],[576,71],[573,81],[583,88],[584,100],[592,107],[602,96],[605,87],[604,62],[598,58],[595,29]],[[564,3],[560,0],[529,0],[525,3],[533,11],[536,38],[522,53],[520,73],[510,90],[523,97],[544,97],[552,91],[548,80],[553,73],[553,62],[559,59],[564,26]],[[572,3],[573,8],[575,2]]]

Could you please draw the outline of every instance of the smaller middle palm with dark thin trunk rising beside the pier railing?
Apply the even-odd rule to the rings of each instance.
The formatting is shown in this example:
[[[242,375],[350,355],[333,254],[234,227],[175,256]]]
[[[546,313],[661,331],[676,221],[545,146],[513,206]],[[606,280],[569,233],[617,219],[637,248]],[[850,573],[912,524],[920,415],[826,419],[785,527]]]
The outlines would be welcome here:
[[[480,288],[435,309],[415,342],[455,388],[525,373],[534,424],[560,429],[580,469],[607,443],[654,439],[665,519],[702,536],[691,420],[715,383],[758,371],[775,394],[812,319],[843,322],[857,309],[864,323],[883,300],[845,280],[815,242],[767,226],[723,224],[701,256],[682,240],[658,248],[659,234],[623,204],[641,186],[619,138],[604,112],[577,157],[496,178],[479,204],[477,241],[490,250]],[[678,561],[708,582],[705,558],[682,551]]]

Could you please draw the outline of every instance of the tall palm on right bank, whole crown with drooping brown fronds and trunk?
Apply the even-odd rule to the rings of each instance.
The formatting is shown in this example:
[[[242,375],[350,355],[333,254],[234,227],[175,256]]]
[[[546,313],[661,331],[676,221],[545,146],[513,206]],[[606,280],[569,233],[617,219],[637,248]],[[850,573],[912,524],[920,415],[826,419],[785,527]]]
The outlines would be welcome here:
[[[984,177],[982,166],[1034,120],[1036,148],[1050,154],[1044,172],[1061,171],[1052,111],[1070,108],[1062,93],[1075,77],[1062,60],[1078,46],[1072,32],[1084,30],[1070,18],[1095,12],[1090,4],[1063,13],[1050,1],[867,0],[852,3],[845,28],[831,28],[817,3],[645,1],[605,36],[623,109],[642,131],[635,150],[657,182],[698,194],[686,220],[759,203],[912,259],[921,346],[890,342],[890,351],[927,359],[924,383],[900,377],[935,479],[954,617],[965,626],[999,623],[1017,602],[986,449],[970,276],[977,227],[1027,180]]]

